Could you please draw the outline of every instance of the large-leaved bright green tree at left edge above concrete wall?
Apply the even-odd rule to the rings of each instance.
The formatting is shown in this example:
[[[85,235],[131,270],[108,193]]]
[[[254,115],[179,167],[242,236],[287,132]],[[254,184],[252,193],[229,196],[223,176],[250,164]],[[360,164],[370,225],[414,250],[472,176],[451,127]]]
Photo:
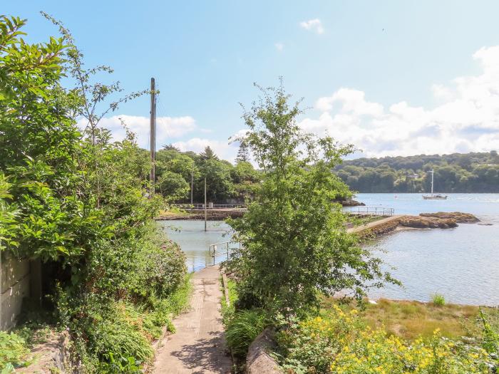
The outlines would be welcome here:
[[[66,261],[102,234],[87,184],[78,170],[80,133],[72,117],[76,92],[64,90],[64,43],[21,40],[25,21],[1,17],[0,170],[16,208],[19,256]]]

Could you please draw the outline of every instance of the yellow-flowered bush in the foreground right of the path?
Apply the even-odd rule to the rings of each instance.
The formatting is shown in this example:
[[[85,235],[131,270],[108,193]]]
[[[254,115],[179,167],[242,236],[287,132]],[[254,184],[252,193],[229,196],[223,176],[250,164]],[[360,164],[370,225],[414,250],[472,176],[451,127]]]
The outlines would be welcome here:
[[[491,365],[482,348],[449,341],[438,330],[408,343],[338,306],[279,332],[277,341],[286,373],[486,374]]]

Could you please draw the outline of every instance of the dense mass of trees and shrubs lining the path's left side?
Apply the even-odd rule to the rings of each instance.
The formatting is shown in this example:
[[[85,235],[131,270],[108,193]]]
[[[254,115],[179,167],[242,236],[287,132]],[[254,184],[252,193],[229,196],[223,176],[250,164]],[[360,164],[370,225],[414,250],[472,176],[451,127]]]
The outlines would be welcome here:
[[[25,20],[0,18],[0,250],[43,263],[39,318],[68,329],[79,372],[138,373],[189,291],[184,256],[153,222],[148,153],[100,125],[146,91],[111,101],[120,85],[99,75],[112,70],[86,68],[44,15],[61,37],[33,44]],[[24,343],[0,339],[8,373]]]

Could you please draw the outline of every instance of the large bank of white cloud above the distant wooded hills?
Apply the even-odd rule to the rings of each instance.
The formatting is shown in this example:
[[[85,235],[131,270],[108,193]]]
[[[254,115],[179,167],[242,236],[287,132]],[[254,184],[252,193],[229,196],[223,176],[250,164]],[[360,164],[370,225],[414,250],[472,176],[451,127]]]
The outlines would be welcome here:
[[[433,85],[438,105],[414,107],[406,101],[389,108],[366,100],[361,90],[340,88],[319,98],[317,118],[300,125],[319,135],[354,144],[368,156],[442,154],[499,149],[499,46],[473,54],[483,71]]]

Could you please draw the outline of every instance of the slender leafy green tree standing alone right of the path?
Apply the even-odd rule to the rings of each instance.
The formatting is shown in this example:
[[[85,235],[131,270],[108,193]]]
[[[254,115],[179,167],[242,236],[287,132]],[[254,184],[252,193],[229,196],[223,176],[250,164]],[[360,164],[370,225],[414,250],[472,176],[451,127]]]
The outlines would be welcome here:
[[[302,133],[299,103],[279,88],[262,90],[245,112],[245,141],[264,173],[249,212],[230,224],[242,241],[226,266],[238,279],[242,306],[290,316],[318,306],[319,293],[391,281],[379,259],[346,234],[344,214],[332,201],[348,189],[331,169],[351,152],[331,137]]]

